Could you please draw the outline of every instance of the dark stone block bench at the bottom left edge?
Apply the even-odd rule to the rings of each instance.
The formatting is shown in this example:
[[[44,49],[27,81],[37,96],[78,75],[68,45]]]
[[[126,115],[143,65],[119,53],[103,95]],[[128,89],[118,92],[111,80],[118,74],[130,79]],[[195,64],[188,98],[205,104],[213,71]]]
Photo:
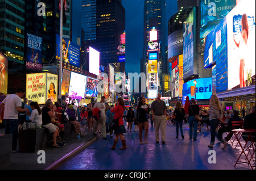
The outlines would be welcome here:
[[[13,134],[0,134],[0,167],[11,162]]]

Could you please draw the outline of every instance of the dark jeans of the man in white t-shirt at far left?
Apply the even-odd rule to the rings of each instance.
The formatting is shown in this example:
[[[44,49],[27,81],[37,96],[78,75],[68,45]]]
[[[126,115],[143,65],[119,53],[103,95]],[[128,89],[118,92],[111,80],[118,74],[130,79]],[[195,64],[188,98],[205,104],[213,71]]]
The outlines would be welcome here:
[[[18,119],[5,119],[5,134],[13,134],[13,146],[12,150],[15,150],[18,143]]]

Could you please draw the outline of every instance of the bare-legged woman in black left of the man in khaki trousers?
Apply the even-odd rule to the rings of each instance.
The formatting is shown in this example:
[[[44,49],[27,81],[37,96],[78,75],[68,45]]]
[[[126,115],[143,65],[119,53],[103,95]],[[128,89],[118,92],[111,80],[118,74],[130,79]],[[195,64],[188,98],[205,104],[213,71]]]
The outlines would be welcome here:
[[[142,131],[145,130],[144,133],[144,143],[147,144],[147,134],[148,134],[148,119],[149,116],[149,106],[146,104],[146,99],[142,96],[139,99],[139,104],[137,108],[137,118],[139,120],[139,144],[143,145],[142,142]]]

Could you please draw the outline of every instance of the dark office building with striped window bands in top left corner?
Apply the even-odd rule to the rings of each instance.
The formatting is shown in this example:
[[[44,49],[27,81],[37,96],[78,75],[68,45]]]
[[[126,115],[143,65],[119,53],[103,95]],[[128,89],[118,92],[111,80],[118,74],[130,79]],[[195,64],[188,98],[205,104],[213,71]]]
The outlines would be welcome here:
[[[25,1],[0,1],[0,50],[8,57],[9,73],[24,69]]]

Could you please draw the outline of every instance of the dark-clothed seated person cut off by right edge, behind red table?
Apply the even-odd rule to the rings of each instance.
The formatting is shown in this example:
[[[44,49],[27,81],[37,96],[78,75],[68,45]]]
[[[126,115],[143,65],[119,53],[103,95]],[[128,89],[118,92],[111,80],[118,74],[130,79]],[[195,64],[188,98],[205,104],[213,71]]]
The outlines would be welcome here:
[[[244,122],[243,122],[243,129],[256,129],[256,117],[255,117],[255,106],[251,107],[249,115],[245,116]],[[243,132],[243,140],[247,141],[248,139],[248,133]],[[253,141],[255,143],[255,132],[251,133],[251,137],[253,138]],[[251,140],[249,140],[251,141]]]

